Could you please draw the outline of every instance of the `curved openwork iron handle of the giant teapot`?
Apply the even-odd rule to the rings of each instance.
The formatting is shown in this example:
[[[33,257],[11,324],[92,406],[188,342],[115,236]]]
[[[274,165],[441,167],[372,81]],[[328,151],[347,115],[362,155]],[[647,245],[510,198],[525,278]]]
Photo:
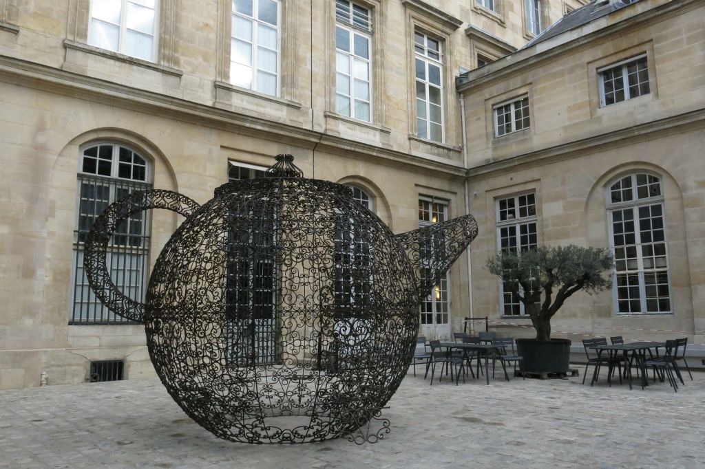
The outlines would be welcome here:
[[[102,304],[117,315],[137,323],[142,323],[145,317],[145,304],[125,296],[110,278],[106,254],[108,243],[118,225],[135,213],[149,208],[164,208],[188,217],[199,207],[199,204],[183,194],[162,189],[135,191],[110,204],[93,223],[83,254],[88,283]]]

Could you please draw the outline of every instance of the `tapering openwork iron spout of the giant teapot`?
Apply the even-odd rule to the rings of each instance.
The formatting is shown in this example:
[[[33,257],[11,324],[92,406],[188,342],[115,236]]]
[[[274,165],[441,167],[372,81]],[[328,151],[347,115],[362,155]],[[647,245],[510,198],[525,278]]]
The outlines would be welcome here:
[[[431,292],[475,237],[477,222],[472,215],[396,235],[414,268],[421,297]]]

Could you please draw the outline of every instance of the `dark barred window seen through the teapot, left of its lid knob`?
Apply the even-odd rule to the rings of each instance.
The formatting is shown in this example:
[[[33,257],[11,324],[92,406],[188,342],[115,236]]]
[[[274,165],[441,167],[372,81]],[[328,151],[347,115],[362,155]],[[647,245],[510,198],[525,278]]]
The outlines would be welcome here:
[[[228,180],[265,177],[266,168],[228,162]],[[266,206],[262,216],[247,206],[233,208],[233,229],[228,232],[226,299],[228,303],[226,359],[231,366],[273,363],[276,344],[276,269],[274,268],[274,212]],[[253,222],[254,218],[259,218]],[[238,219],[243,222],[238,222]],[[241,229],[238,227],[245,227]]]

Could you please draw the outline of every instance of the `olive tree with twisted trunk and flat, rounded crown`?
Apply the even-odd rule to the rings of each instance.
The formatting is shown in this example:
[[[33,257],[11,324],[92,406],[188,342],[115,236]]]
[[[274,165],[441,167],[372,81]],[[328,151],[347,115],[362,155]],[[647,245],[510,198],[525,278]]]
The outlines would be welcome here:
[[[539,247],[500,253],[487,261],[505,292],[524,304],[538,340],[551,339],[551,318],[568,297],[580,290],[593,294],[612,287],[614,259],[607,249],[569,246]]]

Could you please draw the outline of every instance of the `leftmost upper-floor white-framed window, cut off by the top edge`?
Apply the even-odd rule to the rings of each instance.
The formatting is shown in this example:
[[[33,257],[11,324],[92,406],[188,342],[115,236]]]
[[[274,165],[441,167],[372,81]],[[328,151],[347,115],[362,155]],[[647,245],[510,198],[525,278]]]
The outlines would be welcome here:
[[[88,44],[157,60],[157,0],[91,0]]]

